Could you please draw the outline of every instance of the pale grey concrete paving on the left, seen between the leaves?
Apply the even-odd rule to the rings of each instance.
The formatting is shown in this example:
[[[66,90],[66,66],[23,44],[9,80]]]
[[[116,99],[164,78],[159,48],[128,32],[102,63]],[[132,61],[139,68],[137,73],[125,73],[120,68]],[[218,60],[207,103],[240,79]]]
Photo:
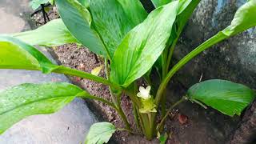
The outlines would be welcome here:
[[[0,0],[0,34],[29,29],[21,18],[30,11],[29,0]],[[40,48],[49,58],[46,49]],[[53,58],[50,58],[53,61]],[[31,82],[69,82],[62,74],[42,74],[28,70],[0,70],[0,90]],[[18,122],[0,135],[0,144],[78,144],[90,126],[97,122],[82,99],[75,99],[56,114],[31,116]]]

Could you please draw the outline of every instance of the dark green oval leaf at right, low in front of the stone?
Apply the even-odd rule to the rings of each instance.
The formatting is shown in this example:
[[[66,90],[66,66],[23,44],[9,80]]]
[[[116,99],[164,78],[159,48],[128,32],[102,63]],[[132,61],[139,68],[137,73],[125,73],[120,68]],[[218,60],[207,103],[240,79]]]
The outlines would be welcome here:
[[[203,102],[223,114],[234,116],[240,115],[254,100],[255,93],[238,83],[212,79],[191,86],[187,95],[192,102]]]

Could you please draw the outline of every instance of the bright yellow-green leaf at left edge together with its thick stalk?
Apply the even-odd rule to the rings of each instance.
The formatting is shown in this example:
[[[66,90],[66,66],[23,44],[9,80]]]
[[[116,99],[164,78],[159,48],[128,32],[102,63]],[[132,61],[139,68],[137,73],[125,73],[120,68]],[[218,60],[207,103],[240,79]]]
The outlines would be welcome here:
[[[43,73],[50,72],[58,74],[69,74],[80,78],[87,78],[95,82],[116,86],[105,78],[95,76],[80,70],[70,69],[65,66],[54,65],[46,56],[33,46],[12,38],[0,35],[0,69],[23,69],[42,70]]]

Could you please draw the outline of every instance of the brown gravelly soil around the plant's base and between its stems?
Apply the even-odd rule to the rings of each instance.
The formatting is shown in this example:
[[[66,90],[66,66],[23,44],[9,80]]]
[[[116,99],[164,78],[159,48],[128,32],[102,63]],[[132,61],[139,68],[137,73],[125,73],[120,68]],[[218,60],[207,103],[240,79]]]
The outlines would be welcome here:
[[[56,11],[54,10],[51,10],[49,14],[50,19],[58,18],[58,14],[56,14]],[[37,14],[35,19],[38,20],[39,23],[43,23],[42,16],[40,16],[40,14]],[[97,62],[93,53],[85,47],[79,47],[76,44],[57,46],[51,51],[62,65],[83,70],[88,73],[97,66],[104,66],[102,58],[98,57],[99,62]],[[104,68],[101,70],[99,76],[104,78],[106,77]],[[90,94],[94,94],[95,96],[106,98],[108,100],[111,99],[110,91],[107,86],[91,82],[83,78],[70,77],[70,79],[78,86],[88,90]],[[167,97],[169,98],[167,103],[169,104],[177,101],[182,95],[186,94],[187,88],[182,86],[182,84],[175,80],[175,78],[173,82],[170,82],[169,86],[170,87],[167,90]],[[118,114],[109,106],[106,106],[102,102],[91,100],[86,100],[86,102],[90,106],[90,109],[102,118],[102,121],[112,122],[117,127],[124,127],[124,124]],[[137,134],[128,134],[125,131],[117,132],[114,134],[114,140],[117,143],[159,143],[158,139],[147,141],[146,138],[143,138],[140,130],[138,130],[134,124],[130,99],[125,95],[122,96],[122,108],[128,117],[134,132]],[[165,130],[169,133],[169,138],[166,143],[225,143],[230,137],[230,134],[232,134],[236,129],[236,126],[238,126],[239,121],[240,118],[238,117],[230,118],[211,108],[205,110],[197,104],[184,102],[179,105],[177,109],[173,110],[170,117],[166,120]]]

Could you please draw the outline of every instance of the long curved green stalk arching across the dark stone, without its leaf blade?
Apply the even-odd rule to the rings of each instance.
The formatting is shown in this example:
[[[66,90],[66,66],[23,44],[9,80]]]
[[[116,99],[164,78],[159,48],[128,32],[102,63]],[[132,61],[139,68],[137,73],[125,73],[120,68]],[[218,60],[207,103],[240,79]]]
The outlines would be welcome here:
[[[192,50],[190,54],[187,54],[186,57],[182,58],[181,61],[179,61],[166,75],[166,78],[163,79],[162,83],[159,86],[158,93],[155,98],[156,105],[159,106],[159,103],[162,100],[162,94],[164,90],[166,89],[166,86],[168,82],[170,81],[170,78],[174,76],[174,74],[182,68],[187,62],[189,62],[192,58],[200,54],[203,50],[206,50],[210,48],[210,46],[213,46],[214,44],[221,42],[222,40],[226,39],[227,36],[225,34],[222,34],[222,32],[219,32],[218,34],[214,35],[214,37],[208,39],[206,42],[203,42],[202,45],[198,46],[196,49]]]

